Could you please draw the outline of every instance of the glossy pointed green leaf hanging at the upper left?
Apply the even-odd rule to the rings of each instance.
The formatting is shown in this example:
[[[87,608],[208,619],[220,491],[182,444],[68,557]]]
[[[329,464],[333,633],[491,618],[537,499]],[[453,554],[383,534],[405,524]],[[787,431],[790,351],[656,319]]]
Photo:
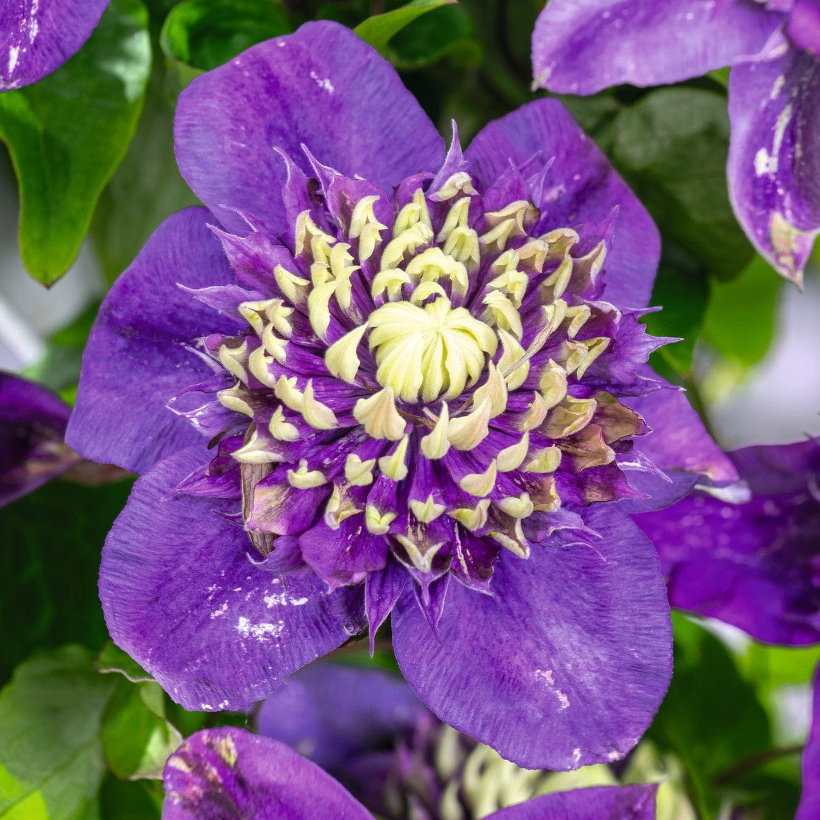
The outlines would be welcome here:
[[[20,248],[43,285],[66,272],[125,155],[151,64],[148,13],[113,0],[88,43],[39,83],[0,94],[0,139],[20,184]]]

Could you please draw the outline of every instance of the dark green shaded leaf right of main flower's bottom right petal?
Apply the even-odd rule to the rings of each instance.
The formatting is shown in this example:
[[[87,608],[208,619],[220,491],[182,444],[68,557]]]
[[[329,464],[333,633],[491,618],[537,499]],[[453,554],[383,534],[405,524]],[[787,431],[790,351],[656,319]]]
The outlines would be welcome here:
[[[768,749],[768,717],[729,650],[675,615],[675,674],[647,738],[681,759],[704,818],[727,795],[719,782],[741,760]]]

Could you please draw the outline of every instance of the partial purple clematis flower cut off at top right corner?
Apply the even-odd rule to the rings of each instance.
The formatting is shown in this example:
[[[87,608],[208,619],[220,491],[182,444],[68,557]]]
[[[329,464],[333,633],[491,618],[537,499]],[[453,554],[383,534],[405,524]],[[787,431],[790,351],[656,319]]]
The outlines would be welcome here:
[[[580,94],[731,65],[732,205],[800,283],[820,231],[820,0],[551,0],[532,60],[536,84]]]

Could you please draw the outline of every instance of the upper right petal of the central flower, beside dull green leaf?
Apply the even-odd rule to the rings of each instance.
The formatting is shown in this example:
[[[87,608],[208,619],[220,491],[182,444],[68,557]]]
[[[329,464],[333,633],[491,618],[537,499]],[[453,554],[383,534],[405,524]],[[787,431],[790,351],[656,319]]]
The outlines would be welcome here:
[[[604,222],[613,203],[620,203],[605,262],[604,298],[618,307],[645,307],[658,267],[658,229],[561,103],[543,99],[522,106],[487,125],[466,152],[473,173],[484,185],[492,185],[510,162],[520,166],[535,155],[529,166],[533,174],[554,157],[540,201],[535,201],[542,224],[549,228]]]

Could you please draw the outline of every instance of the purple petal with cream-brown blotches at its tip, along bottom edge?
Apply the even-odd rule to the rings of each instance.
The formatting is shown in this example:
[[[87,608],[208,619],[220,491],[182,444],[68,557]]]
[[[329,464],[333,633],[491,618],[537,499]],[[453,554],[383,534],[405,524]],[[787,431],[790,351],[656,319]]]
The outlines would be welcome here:
[[[329,774],[276,740],[235,727],[204,729],[171,754],[163,820],[372,820]]]

